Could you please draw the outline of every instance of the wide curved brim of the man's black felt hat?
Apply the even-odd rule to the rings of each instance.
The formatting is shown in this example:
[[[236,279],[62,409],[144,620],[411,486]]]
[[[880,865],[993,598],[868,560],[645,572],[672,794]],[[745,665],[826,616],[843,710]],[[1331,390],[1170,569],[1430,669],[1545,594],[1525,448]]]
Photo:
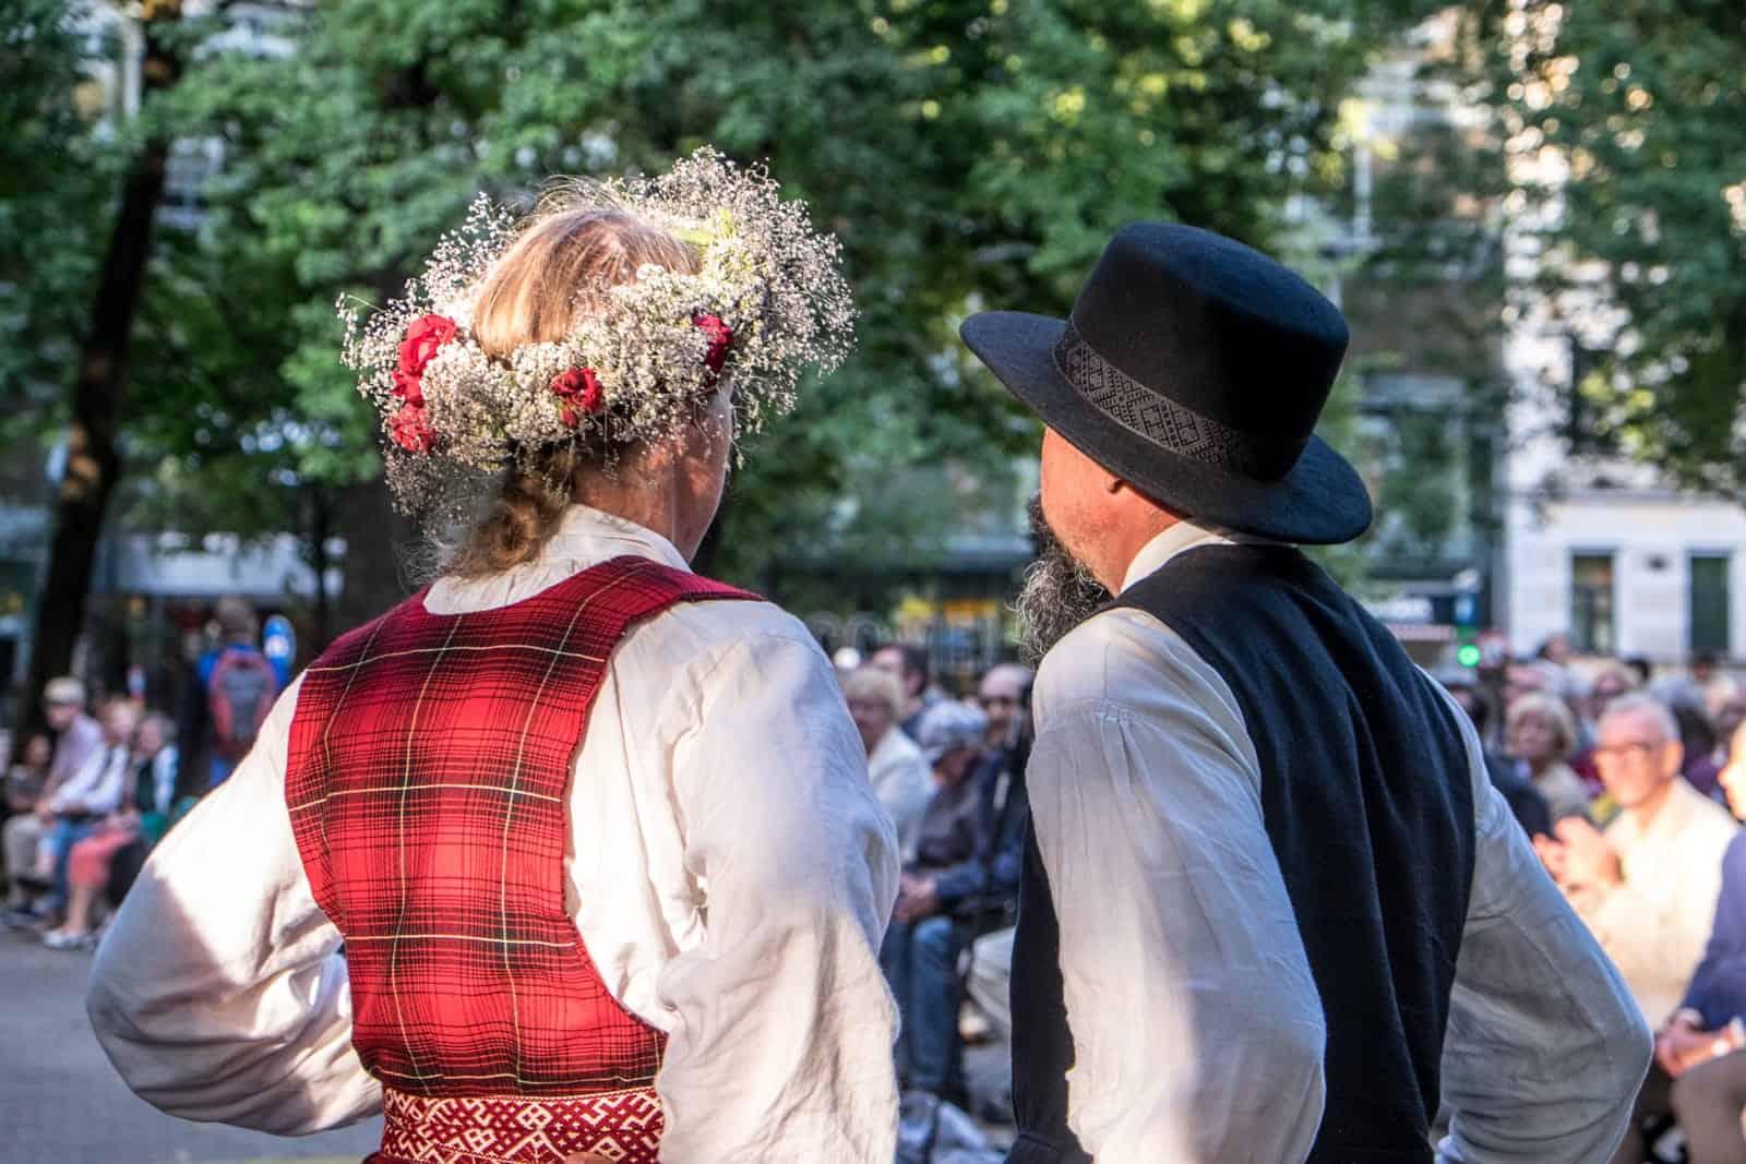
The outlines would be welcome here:
[[[1311,436],[1292,471],[1262,482],[1168,452],[1093,408],[1055,366],[1063,319],[985,311],[959,328],[1000,384],[1051,429],[1105,469],[1201,525],[1327,546],[1371,527],[1371,496],[1357,469]]]

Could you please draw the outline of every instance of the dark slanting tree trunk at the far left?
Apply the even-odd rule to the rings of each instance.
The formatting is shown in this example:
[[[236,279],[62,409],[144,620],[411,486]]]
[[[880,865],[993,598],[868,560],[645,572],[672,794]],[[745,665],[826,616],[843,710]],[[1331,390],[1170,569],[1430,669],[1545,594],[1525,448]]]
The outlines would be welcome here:
[[[180,72],[159,33],[159,28],[180,17],[180,3],[159,0],[148,3],[145,10],[141,77],[150,92],[173,86]],[[127,168],[91,307],[91,330],[79,353],[73,419],[66,431],[66,469],[54,503],[54,541],[37,602],[30,677],[19,709],[31,724],[40,724],[42,688],[72,667],[73,644],[84,625],[86,599],[91,593],[91,567],[103,531],[103,515],[120,476],[117,428],[127,389],[127,344],[152,251],[152,222],[164,197],[168,157],[169,143],[152,140],[140,148]]]

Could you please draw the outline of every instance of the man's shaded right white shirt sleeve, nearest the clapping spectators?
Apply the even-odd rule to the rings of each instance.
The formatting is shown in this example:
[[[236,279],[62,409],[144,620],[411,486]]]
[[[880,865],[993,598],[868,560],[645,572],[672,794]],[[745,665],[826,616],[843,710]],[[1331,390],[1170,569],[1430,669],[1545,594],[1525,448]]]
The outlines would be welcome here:
[[[1453,707],[1453,703],[1451,703]],[[1440,1164],[1589,1164],[1624,1136],[1650,1037],[1467,738],[1475,848],[1442,1049]]]

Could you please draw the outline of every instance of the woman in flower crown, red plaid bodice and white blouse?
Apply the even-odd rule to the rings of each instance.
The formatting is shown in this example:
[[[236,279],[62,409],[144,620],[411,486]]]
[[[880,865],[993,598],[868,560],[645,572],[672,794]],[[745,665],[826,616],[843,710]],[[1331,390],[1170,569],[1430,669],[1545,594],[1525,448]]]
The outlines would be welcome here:
[[[372,1161],[878,1161],[890,824],[805,628],[686,567],[847,351],[835,239],[704,150],[480,204],[346,359],[464,531],[154,853],[91,1019],[145,1099]]]

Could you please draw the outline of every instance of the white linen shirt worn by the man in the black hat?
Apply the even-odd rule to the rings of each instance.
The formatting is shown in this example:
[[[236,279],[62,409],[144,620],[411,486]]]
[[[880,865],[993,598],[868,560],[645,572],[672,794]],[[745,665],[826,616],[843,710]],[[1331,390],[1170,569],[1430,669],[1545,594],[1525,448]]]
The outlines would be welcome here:
[[[1123,590],[1229,541],[1173,525]],[[1454,1122],[1439,1159],[1605,1159],[1646,1033],[1456,719],[1475,860],[1442,1058]],[[1069,1126],[1098,1164],[1303,1161],[1322,1122],[1325,1021],[1236,696],[1156,618],[1112,609],[1049,651],[1035,722],[1027,791],[1060,920]]]

